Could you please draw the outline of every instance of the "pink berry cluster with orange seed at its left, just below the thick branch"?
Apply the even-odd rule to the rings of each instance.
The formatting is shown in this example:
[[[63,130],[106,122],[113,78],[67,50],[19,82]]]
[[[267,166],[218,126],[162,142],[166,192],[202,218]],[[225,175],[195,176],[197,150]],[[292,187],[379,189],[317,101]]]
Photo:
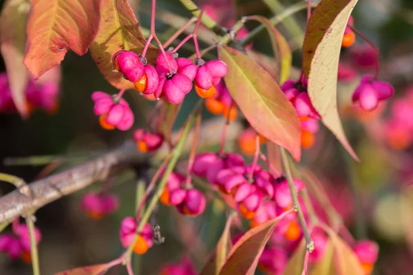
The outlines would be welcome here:
[[[160,202],[165,206],[176,206],[181,214],[197,216],[205,210],[207,201],[199,190],[187,186],[186,179],[179,173],[171,173],[167,186],[162,191]]]

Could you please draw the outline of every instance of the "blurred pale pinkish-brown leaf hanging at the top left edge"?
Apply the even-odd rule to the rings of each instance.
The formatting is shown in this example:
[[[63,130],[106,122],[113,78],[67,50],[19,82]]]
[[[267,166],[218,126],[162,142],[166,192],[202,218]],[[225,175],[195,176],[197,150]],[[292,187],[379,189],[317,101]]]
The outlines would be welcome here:
[[[30,2],[27,0],[8,0],[0,14],[0,50],[6,64],[14,104],[23,118],[28,117],[25,90],[29,74],[23,65],[23,56],[29,10]]]

